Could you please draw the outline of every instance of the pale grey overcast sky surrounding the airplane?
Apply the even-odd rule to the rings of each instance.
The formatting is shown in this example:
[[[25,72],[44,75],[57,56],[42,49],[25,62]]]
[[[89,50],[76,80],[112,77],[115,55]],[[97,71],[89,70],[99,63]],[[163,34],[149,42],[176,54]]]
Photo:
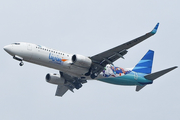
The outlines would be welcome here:
[[[3,50],[30,42],[93,56],[151,31],[153,37],[129,49],[119,67],[134,67],[155,51],[153,72],[180,66],[179,0],[1,0],[1,120],[179,120],[180,70],[158,78],[140,92],[134,86],[88,81],[75,93],[56,97],[45,81],[57,70],[19,62]]]

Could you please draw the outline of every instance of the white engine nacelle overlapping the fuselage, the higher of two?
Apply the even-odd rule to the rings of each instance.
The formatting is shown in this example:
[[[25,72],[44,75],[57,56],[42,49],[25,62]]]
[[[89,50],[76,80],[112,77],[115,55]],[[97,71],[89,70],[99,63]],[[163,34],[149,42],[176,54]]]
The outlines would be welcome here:
[[[72,56],[72,62],[73,64],[84,68],[90,68],[92,64],[92,60],[90,58],[78,54]]]

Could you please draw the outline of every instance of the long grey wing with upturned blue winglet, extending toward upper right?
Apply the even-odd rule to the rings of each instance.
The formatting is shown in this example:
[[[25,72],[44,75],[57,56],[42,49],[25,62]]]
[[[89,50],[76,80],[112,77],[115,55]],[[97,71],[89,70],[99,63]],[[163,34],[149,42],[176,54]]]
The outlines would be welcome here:
[[[105,52],[102,52],[102,53],[99,53],[97,55],[90,57],[91,60],[93,61],[93,65],[91,68],[92,73],[99,74],[107,64],[112,64],[117,59],[123,58],[123,56],[127,53],[127,49],[129,49],[129,48],[137,45],[138,43],[146,40],[147,38],[153,36],[157,32],[158,26],[159,26],[159,23],[157,23],[157,25],[151,32],[149,32],[141,37],[138,37],[134,40],[126,42],[115,48],[112,48],[110,50],[107,50]]]

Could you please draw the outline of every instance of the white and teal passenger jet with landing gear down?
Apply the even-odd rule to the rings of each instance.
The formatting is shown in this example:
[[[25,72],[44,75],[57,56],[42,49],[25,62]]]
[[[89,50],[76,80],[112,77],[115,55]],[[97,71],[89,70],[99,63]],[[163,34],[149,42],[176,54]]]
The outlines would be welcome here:
[[[58,70],[58,74],[48,73],[45,77],[48,83],[57,85],[56,96],[62,97],[68,90],[74,92],[75,88],[81,88],[90,79],[115,85],[136,86],[136,91],[139,91],[177,66],[151,73],[153,50],[149,50],[133,69],[115,67],[113,62],[119,58],[124,59],[129,48],[156,34],[158,26],[159,23],[147,34],[91,57],[68,54],[25,42],[6,45],[4,50],[20,61],[20,66],[26,61]]]

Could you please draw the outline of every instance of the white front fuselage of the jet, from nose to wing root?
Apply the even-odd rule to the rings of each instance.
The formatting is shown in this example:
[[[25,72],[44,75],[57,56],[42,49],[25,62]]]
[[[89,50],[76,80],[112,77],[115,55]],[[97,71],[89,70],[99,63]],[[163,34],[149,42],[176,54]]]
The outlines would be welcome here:
[[[73,65],[72,54],[36,44],[18,42],[7,45],[4,49],[10,55],[22,58],[23,61],[53,68],[75,77],[82,77],[89,70],[89,68]]]

